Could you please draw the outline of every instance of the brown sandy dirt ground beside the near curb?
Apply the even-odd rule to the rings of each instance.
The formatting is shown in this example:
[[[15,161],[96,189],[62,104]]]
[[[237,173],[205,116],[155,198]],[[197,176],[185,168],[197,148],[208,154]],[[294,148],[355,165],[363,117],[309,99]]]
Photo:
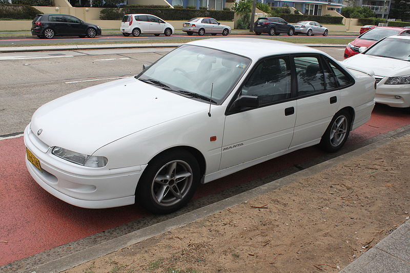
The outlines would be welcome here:
[[[78,272],[337,272],[410,216],[410,136]]]

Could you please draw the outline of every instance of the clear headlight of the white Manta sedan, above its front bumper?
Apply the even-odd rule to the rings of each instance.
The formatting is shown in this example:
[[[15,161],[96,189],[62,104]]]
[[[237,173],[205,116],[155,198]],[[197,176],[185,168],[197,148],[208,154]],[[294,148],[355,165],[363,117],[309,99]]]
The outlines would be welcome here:
[[[51,153],[67,161],[86,167],[104,167],[108,163],[108,159],[104,156],[89,156],[57,146],[53,148],[53,151]]]

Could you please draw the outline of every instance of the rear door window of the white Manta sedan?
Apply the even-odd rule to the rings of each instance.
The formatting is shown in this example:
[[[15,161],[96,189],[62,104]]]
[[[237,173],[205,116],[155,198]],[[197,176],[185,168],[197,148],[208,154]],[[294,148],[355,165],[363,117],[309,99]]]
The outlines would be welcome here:
[[[310,95],[325,89],[323,70],[317,57],[295,57],[298,95]]]

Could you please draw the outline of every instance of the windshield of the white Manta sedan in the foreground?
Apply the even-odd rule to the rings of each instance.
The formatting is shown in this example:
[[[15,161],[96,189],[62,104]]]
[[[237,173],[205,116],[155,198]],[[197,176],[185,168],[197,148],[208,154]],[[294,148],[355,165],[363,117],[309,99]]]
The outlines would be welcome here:
[[[163,56],[135,78],[200,100],[221,103],[251,60],[235,54],[183,45]]]

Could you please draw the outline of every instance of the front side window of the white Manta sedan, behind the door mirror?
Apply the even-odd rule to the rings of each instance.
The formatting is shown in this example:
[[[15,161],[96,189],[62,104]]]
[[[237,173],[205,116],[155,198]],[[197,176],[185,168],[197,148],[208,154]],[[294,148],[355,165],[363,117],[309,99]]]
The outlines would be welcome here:
[[[287,57],[261,61],[245,82],[241,95],[259,97],[261,106],[291,97],[291,68]]]

